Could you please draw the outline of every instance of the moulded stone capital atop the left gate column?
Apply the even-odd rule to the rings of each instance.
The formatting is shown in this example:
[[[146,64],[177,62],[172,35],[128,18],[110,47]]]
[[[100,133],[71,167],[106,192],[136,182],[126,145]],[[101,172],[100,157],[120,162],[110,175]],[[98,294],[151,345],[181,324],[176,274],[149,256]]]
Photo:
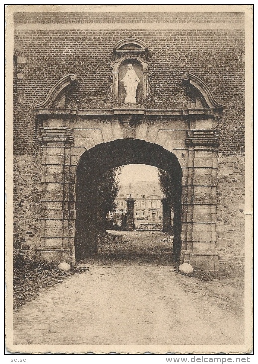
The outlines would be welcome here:
[[[72,129],[66,127],[58,127],[58,128],[49,128],[43,127],[38,128],[39,138],[38,141],[46,145],[50,144],[62,144],[62,145],[71,145],[74,141],[74,137],[72,136]]]

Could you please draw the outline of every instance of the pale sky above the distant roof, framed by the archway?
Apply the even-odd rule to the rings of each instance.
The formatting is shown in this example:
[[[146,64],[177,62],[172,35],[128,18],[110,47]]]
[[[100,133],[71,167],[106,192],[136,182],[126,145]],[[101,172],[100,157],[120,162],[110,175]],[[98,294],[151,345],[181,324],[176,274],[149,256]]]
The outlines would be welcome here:
[[[159,182],[158,169],[154,166],[143,164],[132,164],[122,167],[119,180],[121,185],[133,184],[137,181],[154,181]]]

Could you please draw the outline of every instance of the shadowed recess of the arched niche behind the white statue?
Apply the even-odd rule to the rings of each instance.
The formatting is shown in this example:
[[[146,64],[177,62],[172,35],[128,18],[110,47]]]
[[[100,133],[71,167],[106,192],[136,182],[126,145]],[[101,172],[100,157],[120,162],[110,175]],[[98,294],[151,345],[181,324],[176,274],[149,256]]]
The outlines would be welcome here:
[[[136,101],[142,102],[143,99],[143,67],[142,64],[137,59],[127,58],[120,64],[118,73],[118,102],[124,103],[126,97],[126,90],[124,88],[122,79],[125,77],[128,70],[128,65],[132,64],[134,71],[136,72],[140,82],[137,87]]]

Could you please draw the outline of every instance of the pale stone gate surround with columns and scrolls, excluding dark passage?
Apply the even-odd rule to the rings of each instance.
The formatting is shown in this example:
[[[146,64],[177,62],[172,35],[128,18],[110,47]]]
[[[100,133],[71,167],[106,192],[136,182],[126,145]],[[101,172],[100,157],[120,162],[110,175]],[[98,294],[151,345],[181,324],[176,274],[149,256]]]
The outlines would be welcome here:
[[[64,108],[66,94],[76,83],[75,75],[59,80],[44,102],[36,106],[35,114],[42,125],[38,128],[39,143],[43,149],[38,259],[75,262],[76,167],[83,152],[115,139],[139,138],[175,153],[183,170],[180,262],[190,263],[194,269],[219,269],[215,231],[220,140],[217,125],[223,107],[198,77],[187,73],[183,80],[197,95],[196,102],[185,110],[145,110],[135,104],[109,110]],[[89,116],[100,120],[98,127],[91,129]],[[111,122],[107,122],[107,116]],[[157,122],[148,124],[148,118],[153,120],[153,116]],[[169,117],[182,123],[185,131],[181,126],[175,130],[172,121],[171,129],[167,123],[163,125],[162,120]],[[142,120],[147,120],[146,123],[130,123],[139,118],[145,118]],[[75,122],[78,124],[80,120],[83,127],[75,133]],[[168,135],[179,132],[180,147],[172,148]]]

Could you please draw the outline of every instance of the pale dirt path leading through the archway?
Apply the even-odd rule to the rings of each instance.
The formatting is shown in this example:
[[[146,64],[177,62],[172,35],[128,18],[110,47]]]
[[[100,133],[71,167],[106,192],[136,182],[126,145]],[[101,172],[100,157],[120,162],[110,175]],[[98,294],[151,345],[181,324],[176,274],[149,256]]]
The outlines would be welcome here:
[[[177,273],[158,232],[126,232],[14,314],[15,344],[243,344],[232,286]],[[145,254],[145,255],[144,255]]]

